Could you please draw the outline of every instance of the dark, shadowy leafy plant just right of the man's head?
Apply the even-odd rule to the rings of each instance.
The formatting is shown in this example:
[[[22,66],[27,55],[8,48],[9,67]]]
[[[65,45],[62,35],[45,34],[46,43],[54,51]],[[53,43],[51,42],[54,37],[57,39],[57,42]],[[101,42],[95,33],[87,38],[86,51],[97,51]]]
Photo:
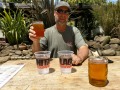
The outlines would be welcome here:
[[[75,26],[79,28],[85,39],[94,38],[93,30],[98,27],[98,23],[90,4],[79,3],[77,7],[72,8],[70,19],[75,21]]]

